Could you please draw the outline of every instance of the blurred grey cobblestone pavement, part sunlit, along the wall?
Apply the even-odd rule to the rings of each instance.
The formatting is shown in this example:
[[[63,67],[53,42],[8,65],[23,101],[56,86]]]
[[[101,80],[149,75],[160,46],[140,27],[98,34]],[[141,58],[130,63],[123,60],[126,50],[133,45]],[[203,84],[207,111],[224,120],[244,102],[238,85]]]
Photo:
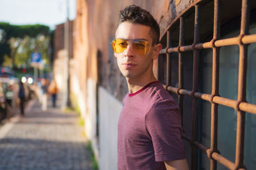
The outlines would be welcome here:
[[[42,111],[37,101],[32,103],[24,117],[0,127],[0,169],[91,170],[77,114],[58,108]]]

